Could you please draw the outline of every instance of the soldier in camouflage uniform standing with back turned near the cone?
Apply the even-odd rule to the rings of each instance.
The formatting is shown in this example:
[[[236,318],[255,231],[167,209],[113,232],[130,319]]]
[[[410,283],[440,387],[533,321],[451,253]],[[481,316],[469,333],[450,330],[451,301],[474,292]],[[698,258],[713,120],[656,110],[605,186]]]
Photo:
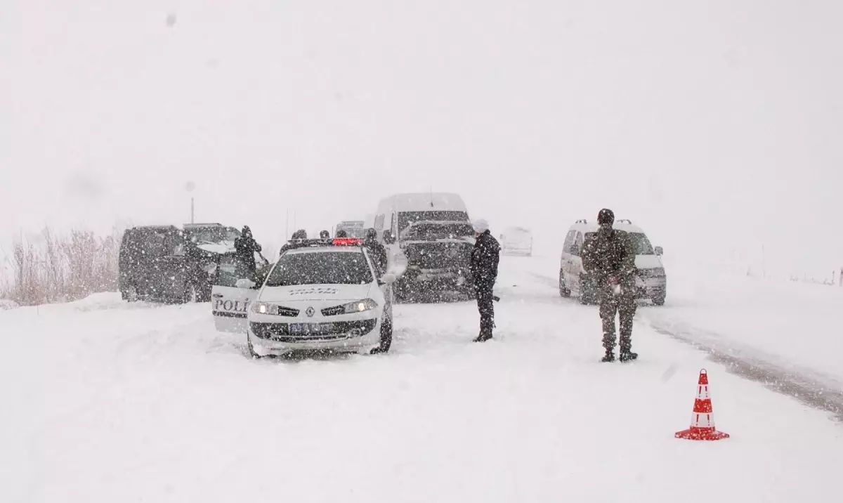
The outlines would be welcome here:
[[[635,360],[632,318],[635,317],[635,256],[629,235],[612,228],[615,213],[600,210],[599,230],[583,243],[583,269],[593,277],[603,319],[603,361],[615,361],[615,315],[620,318],[620,361]]]

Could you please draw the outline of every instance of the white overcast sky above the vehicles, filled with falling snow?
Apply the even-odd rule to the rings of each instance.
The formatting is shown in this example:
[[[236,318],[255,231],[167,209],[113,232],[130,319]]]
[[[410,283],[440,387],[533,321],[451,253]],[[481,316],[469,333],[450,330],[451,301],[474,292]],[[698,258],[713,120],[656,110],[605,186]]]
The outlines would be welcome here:
[[[315,232],[432,187],[549,254],[609,206],[668,254],[830,270],[840,19],[834,0],[3,0],[0,236],[187,222],[192,181],[197,220],[278,243],[287,210]]]

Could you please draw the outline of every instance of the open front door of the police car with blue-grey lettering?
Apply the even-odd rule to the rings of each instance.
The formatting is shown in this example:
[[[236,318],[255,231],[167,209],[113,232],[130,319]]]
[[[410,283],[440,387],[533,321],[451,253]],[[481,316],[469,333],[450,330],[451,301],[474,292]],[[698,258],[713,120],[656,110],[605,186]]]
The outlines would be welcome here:
[[[249,268],[237,256],[225,254],[220,257],[216,280],[211,287],[211,309],[217,330],[244,334],[246,313],[259,289]]]

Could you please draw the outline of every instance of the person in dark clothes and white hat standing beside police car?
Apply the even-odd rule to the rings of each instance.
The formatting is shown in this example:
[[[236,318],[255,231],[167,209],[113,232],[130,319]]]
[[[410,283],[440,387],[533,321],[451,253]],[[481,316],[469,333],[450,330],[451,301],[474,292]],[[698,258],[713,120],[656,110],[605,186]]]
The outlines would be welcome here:
[[[497,265],[501,260],[501,245],[489,231],[489,223],[478,220],[474,223],[475,246],[471,251],[471,276],[474,278],[477,310],[480,311],[480,335],[474,340],[483,342],[491,339],[495,327],[495,306],[492,290],[497,281]]]

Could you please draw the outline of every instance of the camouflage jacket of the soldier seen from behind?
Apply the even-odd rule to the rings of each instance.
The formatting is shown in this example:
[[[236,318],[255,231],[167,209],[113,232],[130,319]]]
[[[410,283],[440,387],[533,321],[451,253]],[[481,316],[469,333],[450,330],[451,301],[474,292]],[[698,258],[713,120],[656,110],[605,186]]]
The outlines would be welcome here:
[[[623,286],[634,286],[635,256],[629,235],[611,227],[600,227],[583,243],[583,269],[598,288],[608,287],[611,278]]]

